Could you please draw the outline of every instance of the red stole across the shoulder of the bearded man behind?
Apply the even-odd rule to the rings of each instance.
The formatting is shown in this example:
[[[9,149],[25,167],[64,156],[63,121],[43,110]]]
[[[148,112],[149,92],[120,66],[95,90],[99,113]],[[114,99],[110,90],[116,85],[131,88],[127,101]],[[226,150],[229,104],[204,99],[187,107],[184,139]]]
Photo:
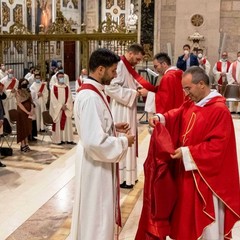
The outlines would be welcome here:
[[[155,86],[153,86],[150,82],[148,82],[146,79],[144,79],[143,76],[138,74],[135,69],[133,69],[132,65],[128,62],[128,60],[125,58],[125,56],[121,56],[121,60],[123,61],[125,67],[127,68],[128,72],[133,76],[133,78],[141,84],[144,88],[146,88],[148,91],[155,92]]]

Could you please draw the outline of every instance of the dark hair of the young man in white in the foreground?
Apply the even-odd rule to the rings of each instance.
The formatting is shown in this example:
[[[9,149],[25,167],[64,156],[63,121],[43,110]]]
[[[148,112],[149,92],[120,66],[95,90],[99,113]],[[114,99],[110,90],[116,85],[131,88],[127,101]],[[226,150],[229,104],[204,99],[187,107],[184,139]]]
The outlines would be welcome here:
[[[119,61],[120,57],[116,53],[107,48],[98,48],[90,56],[89,71],[94,72],[99,66],[111,67]]]

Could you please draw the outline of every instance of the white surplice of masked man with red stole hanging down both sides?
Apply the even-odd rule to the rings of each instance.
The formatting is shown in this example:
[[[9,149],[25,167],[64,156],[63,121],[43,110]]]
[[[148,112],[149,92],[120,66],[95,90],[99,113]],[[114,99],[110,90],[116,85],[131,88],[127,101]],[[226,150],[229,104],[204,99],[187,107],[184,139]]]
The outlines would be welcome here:
[[[72,115],[73,115],[73,100],[72,93],[69,86],[63,84],[55,84],[54,86],[58,89],[58,98],[54,94],[54,87],[50,91],[50,107],[49,113],[53,118],[53,122],[56,123],[56,130],[52,132],[53,143],[63,142],[72,142],[73,141],[73,127],[72,127]],[[66,101],[65,87],[68,88],[68,99]],[[62,106],[66,104],[67,109],[65,110],[66,114],[66,123],[64,130],[60,128],[60,121],[62,116]]]

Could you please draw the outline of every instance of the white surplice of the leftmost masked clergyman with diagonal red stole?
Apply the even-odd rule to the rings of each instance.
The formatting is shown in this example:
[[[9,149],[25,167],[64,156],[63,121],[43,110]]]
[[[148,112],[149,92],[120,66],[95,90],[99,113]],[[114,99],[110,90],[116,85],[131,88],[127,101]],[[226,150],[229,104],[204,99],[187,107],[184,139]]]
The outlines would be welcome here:
[[[16,79],[16,78],[15,78]],[[12,79],[8,78],[8,75],[1,79],[0,81],[4,85],[4,91],[7,95],[7,98],[2,100],[3,107],[5,110],[5,117],[9,120],[8,111],[11,109],[17,109],[16,93],[12,93],[11,89],[7,89],[11,84]],[[18,80],[16,79],[15,85],[13,87],[15,90],[18,89]]]

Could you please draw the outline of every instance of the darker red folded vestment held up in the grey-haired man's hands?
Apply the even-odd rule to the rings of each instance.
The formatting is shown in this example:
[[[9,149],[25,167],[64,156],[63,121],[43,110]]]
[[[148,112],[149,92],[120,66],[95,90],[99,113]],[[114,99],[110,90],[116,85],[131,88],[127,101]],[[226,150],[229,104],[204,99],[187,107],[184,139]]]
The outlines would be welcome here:
[[[175,160],[171,137],[158,123],[151,136],[148,157],[144,163],[144,196],[141,218],[135,240],[162,240],[170,235],[170,217],[176,202]]]

